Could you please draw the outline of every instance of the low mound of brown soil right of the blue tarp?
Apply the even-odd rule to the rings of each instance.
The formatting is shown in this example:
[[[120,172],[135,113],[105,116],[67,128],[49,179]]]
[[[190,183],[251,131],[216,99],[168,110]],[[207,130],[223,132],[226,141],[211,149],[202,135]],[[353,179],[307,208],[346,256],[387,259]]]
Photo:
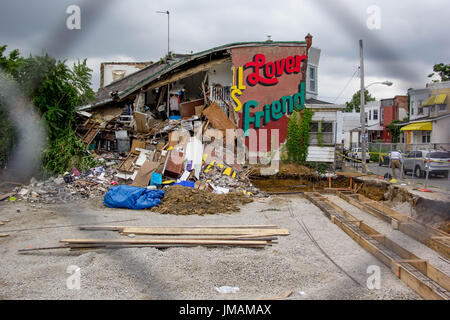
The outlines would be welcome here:
[[[238,193],[215,194],[182,186],[168,187],[165,191],[161,204],[152,211],[176,215],[238,212],[240,205],[253,202],[251,198]]]

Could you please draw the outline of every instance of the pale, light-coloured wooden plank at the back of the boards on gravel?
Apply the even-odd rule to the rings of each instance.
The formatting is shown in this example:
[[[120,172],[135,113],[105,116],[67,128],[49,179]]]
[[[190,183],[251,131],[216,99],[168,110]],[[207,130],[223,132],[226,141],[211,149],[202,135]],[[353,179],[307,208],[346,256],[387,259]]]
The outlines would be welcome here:
[[[125,234],[147,234],[147,235],[246,235],[246,234],[273,234],[279,236],[289,235],[288,229],[246,229],[246,228],[146,228],[146,227],[127,227],[124,228]]]

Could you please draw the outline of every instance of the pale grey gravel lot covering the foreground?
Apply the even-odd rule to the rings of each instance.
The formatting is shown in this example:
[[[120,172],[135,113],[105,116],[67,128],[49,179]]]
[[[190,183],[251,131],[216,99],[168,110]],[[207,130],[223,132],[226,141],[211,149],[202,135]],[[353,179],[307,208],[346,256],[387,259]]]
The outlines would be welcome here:
[[[0,299],[260,299],[292,290],[289,299],[420,299],[379,260],[367,253],[300,196],[258,199],[241,212],[207,216],[162,215],[104,208],[98,203],[66,205],[0,203]],[[303,232],[308,226],[320,246],[360,284],[332,264]],[[17,212],[17,209],[20,212]],[[271,210],[268,210],[271,209]],[[136,219],[128,222],[112,222]],[[369,221],[368,221],[369,222]],[[78,227],[11,230],[71,224],[174,226],[276,224],[291,235],[264,249],[130,248],[70,252],[68,249],[19,254],[18,249],[58,246],[61,238],[119,238],[117,232]],[[145,236],[141,236],[145,237]],[[425,247],[426,248],[426,247]],[[80,290],[66,286],[67,267],[81,268]],[[366,287],[367,267],[381,269],[381,288]],[[439,267],[436,264],[437,267]],[[215,287],[236,286],[220,294]],[[304,292],[306,294],[300,294]]]

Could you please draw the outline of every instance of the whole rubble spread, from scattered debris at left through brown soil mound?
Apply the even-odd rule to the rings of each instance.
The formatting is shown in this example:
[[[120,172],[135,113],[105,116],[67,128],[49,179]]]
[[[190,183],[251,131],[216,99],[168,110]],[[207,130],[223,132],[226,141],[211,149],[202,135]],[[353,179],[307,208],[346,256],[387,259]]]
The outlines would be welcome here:
[[[200,112],[167,120],[129,108],[82,112],[78,134],[98,166],[86,172],[72,168],[46,181],[34,179],[16,188],[17,199],[96,199],[111,187],[131,185],[167,190],[158,212],[211,214],[237,211],[239,204],[251,201],[248,197],[264,195],[249,180],[249,168],[226,163],[223,146],[202,139],[210,129],[220,134],[235,124],[215,102],[196,110]],[[181,186],[172,186],[177,184]]]

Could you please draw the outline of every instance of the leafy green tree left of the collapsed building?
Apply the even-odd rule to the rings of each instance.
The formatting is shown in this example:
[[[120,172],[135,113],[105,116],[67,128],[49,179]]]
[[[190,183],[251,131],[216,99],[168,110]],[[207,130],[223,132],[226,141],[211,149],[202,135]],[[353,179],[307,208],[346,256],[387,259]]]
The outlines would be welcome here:
[[[5,49],[6,46],[0,47],[1,66],[19,84],[46,125],[44,171],[62,173],[72,166],[85,169],[92,164],[92,158],[75,135],[75,117],[79,106],[94,99],[92,70],[86,59],[70,68],[65,60],[56,60],[48,54],[22,58],[14,50],[4,57]]]

